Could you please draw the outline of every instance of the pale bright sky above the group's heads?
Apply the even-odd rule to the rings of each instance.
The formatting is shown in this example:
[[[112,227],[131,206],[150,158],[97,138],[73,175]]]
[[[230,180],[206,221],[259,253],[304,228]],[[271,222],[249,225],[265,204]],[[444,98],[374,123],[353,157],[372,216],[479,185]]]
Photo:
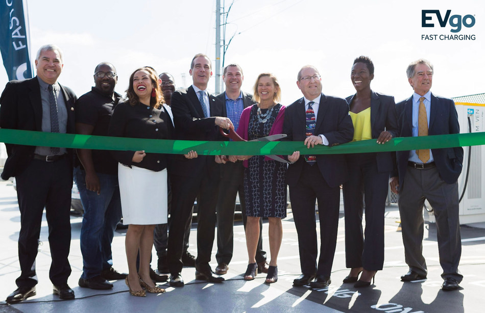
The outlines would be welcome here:
[[[225,1],[226,9],[230,4]],[[93,86],[94,67],[103,61],[117,68],[116,91],[122,94],[129,75],[140,66],[172,73],[177,87],[190,86],[193,55],[205,53],[215,66],[215,0],[31,0],[28,6],[31,59],[41,45],[59,45],[64,51],[59,82],[78,96]],[[442,18],[447,10],[450,15],[470,14],[476,22],[451,33],[449,23],[441,28],[437,16],[429,14],[428,23],[434,23],[434,28],[422,28],[421,10],[440,10]],[[319,69],[324,93],[353,94],[350,70],[359,55],[369,56],[375,64],[372,89],[394,95],[396,101],[411,95],[405,70],[418,58],[434,64],[431,90],[435,94],[483,93],[484,13],[482,0],[236,0],[228,14],[226,38],[236,36],[226,64],[243,67],[243,90],[248,92],[259,73],[276,74],[284,105],[302,96],[296,76],[306,64]],[[473,34],[476,39],[424,41],[422,34]],[[0,70],[0,85],[7,80],[5,70]],[[209,91],[214,90],[212,78]]]

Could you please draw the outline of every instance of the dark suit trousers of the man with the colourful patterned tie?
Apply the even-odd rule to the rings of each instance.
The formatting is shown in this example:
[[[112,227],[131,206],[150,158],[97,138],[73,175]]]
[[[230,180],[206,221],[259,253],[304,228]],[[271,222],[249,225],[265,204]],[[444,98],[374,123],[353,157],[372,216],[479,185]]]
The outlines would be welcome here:
[[[302,273],[330,277],[337,242],[340,187],[328,186],[318,165],[310,166],[305,162],[299,180],[289,186],[289,197],[298,234]],[[316,200],[320,221],[318,267]]]

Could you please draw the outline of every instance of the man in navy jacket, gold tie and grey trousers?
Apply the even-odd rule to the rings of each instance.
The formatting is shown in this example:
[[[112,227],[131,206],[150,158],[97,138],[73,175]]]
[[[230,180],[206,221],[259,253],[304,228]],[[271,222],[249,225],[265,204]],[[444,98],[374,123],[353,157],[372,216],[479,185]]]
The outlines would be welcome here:
[[[458,115],[453,100],[431,93],[433,66],[420,59],[407,68],[414,94],[397,104],[398,137],[458,134]],[[458,176],[463,148],[397,151],[397,170],[390,180],[399,192],[404,256],[409,272],[402,281],[426,279],[423,257],[423,205],[431,204],[436,218],[438,251],[445,280],[442,289],[456,290],[463,275],[458,271],[462,243],[458,217]]]

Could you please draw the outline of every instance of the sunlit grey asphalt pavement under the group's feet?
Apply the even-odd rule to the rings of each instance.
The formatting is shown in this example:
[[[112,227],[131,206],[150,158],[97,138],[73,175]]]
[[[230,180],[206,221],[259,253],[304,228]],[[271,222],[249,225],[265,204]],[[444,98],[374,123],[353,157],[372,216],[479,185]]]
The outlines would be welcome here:
[[[407,272],[404,263],[399,212],[396,206],[386,207],[385,216],[385,262],[375,283],[369,288],[356,289],[353,284],[342,283],[348,275],[345,268],[344,220],[339,220],[337,248],[329,288],[311,290],[308,286],[294,287],[293,279],[300,275],[298,239],[293,215],[283,220],[283,243],[278,256],[278,282],[264,283],[264,274],[252,281],[245,281],[247,250],[244,229],[240,219],[234,225],[234,256],[222,284],[195,280],[195,269],[184,268],[185,286],[171,288],[168,284],[164,294],[148,294],[146,298],[133,297],[124,281],[114,281],[109,291],[95,291],[78,286],[82,273],[82,255],[79,247],[81,217],[71,217],[72,240],[69,262],[72,274],[68,283],[76,293],[76,299],[61,301],[52,294],[48,279],[51,263],[48,229],[44,219],[40,233],[36,269],[39,283],[37,295],[18,304],[5,303],[7,296],[16,289],[19,275],[17,239],[20,229],[20,213],[16,192],[9,181],[0,181],[0,313],[3,312],[482,312],[485,293],[485,229],[483,224],[462,225],[463,253],[460,271],[464,280],[457,291],[444,292],[438,258],[436,227],[425,224],[423,253],[428,265],[428,278],[418,282],[401,282],[400,276]],[[318,216],[317,216],[318,218]],[[189,251],[197,255],[197,224],[192,224]],[[268,224],[263,226],[263,243],[269,254]],[[127,272],[125,256],[125,231],[116,231],[112,244],[113,267]],[[214,244],[212,269],[216,267]],[[156,254],[153,252],[153,268]]]

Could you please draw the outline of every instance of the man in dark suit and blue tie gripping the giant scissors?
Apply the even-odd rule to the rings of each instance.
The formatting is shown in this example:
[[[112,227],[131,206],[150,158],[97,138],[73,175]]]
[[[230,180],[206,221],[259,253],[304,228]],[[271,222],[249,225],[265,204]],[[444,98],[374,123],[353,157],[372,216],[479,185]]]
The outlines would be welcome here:
[[[198,54],[192,59],[190,75],[193,84],[172,94],[172,112],[176,139],[217,140],[219,127],[234,129],[229,118],[223,117],[223,102],[208,94],[207,83],[212,76],[210,59]],[[219,164],[214,156],[200,155],[185,159],[176,155],[172,162],[172,211],[168,236],[167,258],[171,274],[170,285],[183,286],[182,253],[184,232],[192,220],[192,206],[197,197],[196,279],[222,282],[209,266],[215,231],[215,206],[219,186]]]

